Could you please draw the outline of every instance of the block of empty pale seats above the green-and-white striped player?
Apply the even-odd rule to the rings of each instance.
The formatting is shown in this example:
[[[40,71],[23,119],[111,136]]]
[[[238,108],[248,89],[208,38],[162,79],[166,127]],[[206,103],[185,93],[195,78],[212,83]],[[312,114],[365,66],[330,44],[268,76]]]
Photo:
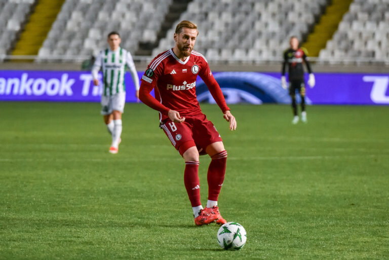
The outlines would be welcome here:
[[[118,31],[122,47],[135,53],[139,42],[155,41],[172,0],[66,0],[38,53],[37,60],[53,55],[96,55],[107,47],[106,36]]]

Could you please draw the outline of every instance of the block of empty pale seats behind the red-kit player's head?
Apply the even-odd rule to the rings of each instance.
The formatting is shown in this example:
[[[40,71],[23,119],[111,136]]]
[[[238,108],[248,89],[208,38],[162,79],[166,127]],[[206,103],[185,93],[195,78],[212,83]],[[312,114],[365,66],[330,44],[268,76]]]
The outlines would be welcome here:
[[[179,21],[191,20],[200,32],[195,49],[213,60],[281,59],[289,36],[304,39],[327,4],[327,0],[194,0],[153,55],[174,45],[173,33]]]

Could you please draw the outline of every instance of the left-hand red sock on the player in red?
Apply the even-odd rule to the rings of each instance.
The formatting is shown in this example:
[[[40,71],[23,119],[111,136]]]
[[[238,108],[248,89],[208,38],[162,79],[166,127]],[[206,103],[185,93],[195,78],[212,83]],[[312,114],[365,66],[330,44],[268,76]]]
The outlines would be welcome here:
[[[192,207],[200,206],[199,162],[185,162],[184,183]]]

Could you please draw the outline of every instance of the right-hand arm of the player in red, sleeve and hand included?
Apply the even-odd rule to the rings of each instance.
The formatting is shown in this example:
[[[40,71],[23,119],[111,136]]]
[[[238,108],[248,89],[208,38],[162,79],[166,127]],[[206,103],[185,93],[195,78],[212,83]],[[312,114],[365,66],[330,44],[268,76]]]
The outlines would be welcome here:
[[[203,79],[204,83],[207,85],[209,92],[212,97],[215,99],[217,105],[223,112],[223,118],[229,122],[229,130],[237,129],[237,121],[234,116],[232,116],[227,103],[225,102],[225,98],[223,92],[220,89],[219,84],[215,80],[212,75],[211,69],[209,68],[208,62],[206,62],[199,73],[200,77]]]

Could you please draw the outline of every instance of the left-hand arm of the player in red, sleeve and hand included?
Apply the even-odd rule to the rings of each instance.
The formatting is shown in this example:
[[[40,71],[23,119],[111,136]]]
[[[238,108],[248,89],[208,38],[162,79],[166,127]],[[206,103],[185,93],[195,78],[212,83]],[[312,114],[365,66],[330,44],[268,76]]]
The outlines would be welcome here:
[[[164,106],[161,102],[159,102],[157,99],[151,96],[150,92],[157,84],[158,73],[160,71],[159,68],[157,68],[156,71],[151,70],[152,72],[150,73],[148,73],[148,71],[150,70],[147,67],[147,70],[141,79],[140,88],[139,88],[140,101],[142,101],[145,105],[151,107],[152,109],[155,109],[161,112],[162,114],[168,116],[170,120],[172,120],[175,123],[183,122],[185,118],[181,117],[177,111]]]

